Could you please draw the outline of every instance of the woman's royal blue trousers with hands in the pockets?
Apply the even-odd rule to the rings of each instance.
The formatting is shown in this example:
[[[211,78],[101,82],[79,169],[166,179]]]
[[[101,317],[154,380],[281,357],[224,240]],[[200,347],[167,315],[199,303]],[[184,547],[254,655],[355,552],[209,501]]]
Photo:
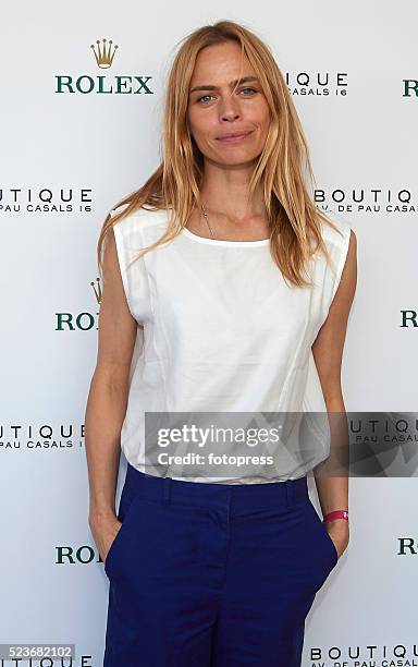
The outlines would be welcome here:
[[[130,463],[104,561],[103,667],[299,667],[337,562],[307,477],[182,482]]]

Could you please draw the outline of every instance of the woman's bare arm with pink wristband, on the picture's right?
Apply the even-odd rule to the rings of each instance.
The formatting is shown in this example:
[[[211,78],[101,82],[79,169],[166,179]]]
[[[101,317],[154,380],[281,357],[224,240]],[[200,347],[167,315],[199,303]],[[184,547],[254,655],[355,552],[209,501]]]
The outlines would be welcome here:
[[[341,364],[345,335],[347,330],[348,315],[357,284],[357,239],[352,230],[348,252],[344,270],[341,276],[340,284],[332,301],[328,317],[322,325],[314,344],[312,353],[321,381],[322,391],[328,412],[345,413],[343,392],[341,388]],[[345,417],[345,414],[342,415]],[[340,461],[341,452],[344,456],[344,463],[348,460],[348,433],[345,419],[331,421],[331,441],[337,447]],[[331,469],[335,460],[332,461]],[[341,463],[341,461],[340,461]],[[336,476],[335,472],[327,474],[327,461],[318,465],[318,474],[315,475],[318,489],[318,497],[321,505],[322,516],[336,509],[348,509],[348,477]],[[348,544],[348,522],[346,519],[334,519],[325,524],[327,530],[335,543],[339,556],[345,550]]]

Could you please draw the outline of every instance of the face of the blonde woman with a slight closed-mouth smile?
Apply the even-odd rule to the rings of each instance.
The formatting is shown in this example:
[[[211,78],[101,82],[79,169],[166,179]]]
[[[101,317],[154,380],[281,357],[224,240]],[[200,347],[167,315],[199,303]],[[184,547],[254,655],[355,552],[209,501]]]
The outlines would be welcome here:
[[[242,64],[241,46],[234,41],[204,48],[190,81],[189,131],[205,158],[221,165],[255,160],[265,146],[270,125],[270,109],[256,72],[245,54],[243,59],[242,80],[234,93]],[[196,87],[199,89],[194,90]],[[222,138],[237,133],[246,136]]]

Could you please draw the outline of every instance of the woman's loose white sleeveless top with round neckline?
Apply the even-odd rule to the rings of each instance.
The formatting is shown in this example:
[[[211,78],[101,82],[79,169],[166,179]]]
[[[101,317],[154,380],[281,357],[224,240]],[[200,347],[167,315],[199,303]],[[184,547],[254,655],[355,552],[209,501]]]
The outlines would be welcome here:
[[[179,446],[171,445],[155,447],[165,456],[164,468],[156,472],[148,456],[152,436],[145,446],[145,413],[183,412],[196,420],[197,413],[242,413],[239,423],[253,425],[254,413],[259,420],[267,412],[327,414],[311,344],[336,292],[351,235],[349,225],[333,222],[342,235],[324,226],[323,239],[335,272],[318,252],[311,260],[314,288],[286,284],[268,239],[222,241],[187,229],[126,268],[161,237],[168,211],[140,209],[115,223],[123,287],[138,323],[121,430],[122,451],[134,468],[188,482],[254,484],[300,477],[329,456],[328,432],[317,424],[309,430],[305,457],[288,446],[280,449],[279,442],[272,465],[251,460],[250,468],[241,470],[207,462],[190,466],[185,459],[169,460],[168,454],[179,452]],[[196,446],[193,451],[198,449],[204,452]],[[255,456],[260,450],[245,442],[235,444],[231,452]]]

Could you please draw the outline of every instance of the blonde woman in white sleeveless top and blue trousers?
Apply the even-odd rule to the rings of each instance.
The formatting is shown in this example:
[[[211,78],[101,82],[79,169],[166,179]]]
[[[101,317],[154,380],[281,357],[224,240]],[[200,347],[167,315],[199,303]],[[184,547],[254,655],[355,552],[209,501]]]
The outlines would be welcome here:
[[[98,245],[86,449],[89,525],[110,581],[106,667],[296,667],[305,618],[347,547],[347,476],[316,475],[327,523],[307,492],[330,453],[318,429],[305,458],[288,438],[268,449],[272,465],[244,470],[160,461],[180,449],[156,444],[161,413],[179,425],[184,413],[245,424],[344,413],[356,238],[317,209],[304,167],[311,174],[266,45],[229,21],[188,35],[168,82],[163,161],[109,214]]]

